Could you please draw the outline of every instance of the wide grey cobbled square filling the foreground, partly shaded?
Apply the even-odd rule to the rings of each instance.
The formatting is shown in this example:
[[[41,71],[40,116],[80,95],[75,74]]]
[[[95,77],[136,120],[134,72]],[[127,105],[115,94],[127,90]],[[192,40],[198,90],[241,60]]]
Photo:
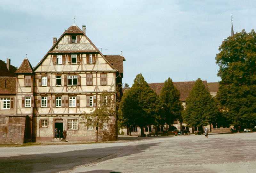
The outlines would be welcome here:
[[[0,172],[256,172],[256,133],[1,147]]]

